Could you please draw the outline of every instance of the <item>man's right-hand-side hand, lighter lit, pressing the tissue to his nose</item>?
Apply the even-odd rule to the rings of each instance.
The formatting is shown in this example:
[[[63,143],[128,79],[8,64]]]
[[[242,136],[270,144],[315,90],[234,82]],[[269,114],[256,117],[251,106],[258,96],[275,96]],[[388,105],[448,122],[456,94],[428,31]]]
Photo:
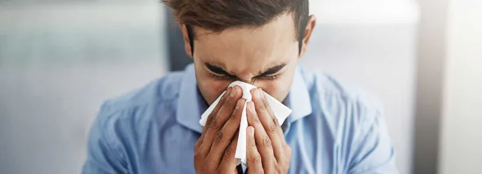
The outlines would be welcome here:
[[[247,173],[288,173],[291,148],[263,90],[251,90],[247,104]],[[256,109],[256,110],[255,110]]]

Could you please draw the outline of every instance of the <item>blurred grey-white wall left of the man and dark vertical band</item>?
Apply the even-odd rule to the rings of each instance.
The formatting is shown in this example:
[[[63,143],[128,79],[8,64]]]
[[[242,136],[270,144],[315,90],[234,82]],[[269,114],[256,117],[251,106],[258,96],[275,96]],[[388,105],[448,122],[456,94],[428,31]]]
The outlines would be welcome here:
[[[159,7],[0,6],[0,173],[80,173],[103,100],[166,72]]]

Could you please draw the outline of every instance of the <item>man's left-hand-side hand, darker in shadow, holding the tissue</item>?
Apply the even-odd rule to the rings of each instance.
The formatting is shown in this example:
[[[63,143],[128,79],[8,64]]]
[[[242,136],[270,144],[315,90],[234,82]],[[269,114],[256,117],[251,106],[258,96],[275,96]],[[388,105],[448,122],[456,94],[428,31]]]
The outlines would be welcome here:
[[[203,133],[194,149],[196,173],[238,173],[235,150],[238,128],[246,100],[239,86],[228,88],[207,118]]]

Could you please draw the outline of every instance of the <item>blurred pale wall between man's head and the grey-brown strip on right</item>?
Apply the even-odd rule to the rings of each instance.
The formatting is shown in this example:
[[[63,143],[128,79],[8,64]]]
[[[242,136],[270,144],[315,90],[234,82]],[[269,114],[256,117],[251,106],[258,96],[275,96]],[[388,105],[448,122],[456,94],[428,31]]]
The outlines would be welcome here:
[[[416,26],[414,1],[312,1],[318,24],[301,63],[379,97],[400,173],[411,173]]]

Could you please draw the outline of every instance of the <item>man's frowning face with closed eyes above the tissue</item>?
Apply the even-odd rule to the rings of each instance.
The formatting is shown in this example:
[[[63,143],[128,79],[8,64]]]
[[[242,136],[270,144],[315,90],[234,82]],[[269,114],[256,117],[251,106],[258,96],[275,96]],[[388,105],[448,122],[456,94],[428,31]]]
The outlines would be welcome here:
[[[298,64],[298,41],[294,38],[291,15],[282,15],[260,27],[226,29],[221,33],[196,29],[193,61],[200,93],[212,104],[231,82],[239,80],[262,88],[282,102]]]

